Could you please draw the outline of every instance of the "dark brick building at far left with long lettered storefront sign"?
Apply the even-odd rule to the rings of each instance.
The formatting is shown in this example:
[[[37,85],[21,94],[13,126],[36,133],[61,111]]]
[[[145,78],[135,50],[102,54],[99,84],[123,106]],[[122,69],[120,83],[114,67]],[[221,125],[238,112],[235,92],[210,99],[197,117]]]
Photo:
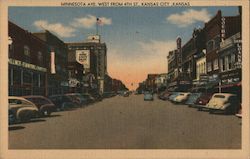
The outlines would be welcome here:
[[[47,45],[12,22],[9,29],[9,95],[46,95]]]

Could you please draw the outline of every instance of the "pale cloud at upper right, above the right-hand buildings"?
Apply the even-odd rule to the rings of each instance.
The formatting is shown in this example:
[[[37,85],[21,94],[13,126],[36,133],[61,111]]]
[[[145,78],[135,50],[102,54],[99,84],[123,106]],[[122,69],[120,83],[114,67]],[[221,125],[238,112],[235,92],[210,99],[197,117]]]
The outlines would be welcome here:
[[[166,20],[178,27],[187,27],[197,21],[207,22],[210,18],[211,15],[206,9],[201,9],[200,11],[188,9],[182,13],[171,14]]]

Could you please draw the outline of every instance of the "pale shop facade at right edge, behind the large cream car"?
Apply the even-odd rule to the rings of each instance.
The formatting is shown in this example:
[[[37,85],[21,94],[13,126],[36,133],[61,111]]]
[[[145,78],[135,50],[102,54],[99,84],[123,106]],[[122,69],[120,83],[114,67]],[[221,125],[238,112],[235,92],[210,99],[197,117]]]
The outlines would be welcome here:
[[[241,94],[242,48],[241,33],[220,43],[220,91]]]

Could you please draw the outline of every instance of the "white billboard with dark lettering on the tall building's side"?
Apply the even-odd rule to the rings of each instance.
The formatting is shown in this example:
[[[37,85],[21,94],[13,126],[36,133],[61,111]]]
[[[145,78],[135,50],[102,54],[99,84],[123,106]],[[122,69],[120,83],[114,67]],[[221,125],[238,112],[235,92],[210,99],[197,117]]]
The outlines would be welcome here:
[[[90,68],[90,51],[76,50],[76,61],[84,66],[84,69]]]

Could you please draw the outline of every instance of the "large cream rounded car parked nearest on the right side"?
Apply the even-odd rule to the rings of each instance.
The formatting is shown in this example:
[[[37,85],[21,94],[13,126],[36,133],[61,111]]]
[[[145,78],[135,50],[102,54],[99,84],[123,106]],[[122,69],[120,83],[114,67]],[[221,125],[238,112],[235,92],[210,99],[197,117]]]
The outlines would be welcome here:
[[[215,93],[206,107],[210,113],[223,112],[225,114],[236,114],[239,111],[239,99],[235,94]]]

